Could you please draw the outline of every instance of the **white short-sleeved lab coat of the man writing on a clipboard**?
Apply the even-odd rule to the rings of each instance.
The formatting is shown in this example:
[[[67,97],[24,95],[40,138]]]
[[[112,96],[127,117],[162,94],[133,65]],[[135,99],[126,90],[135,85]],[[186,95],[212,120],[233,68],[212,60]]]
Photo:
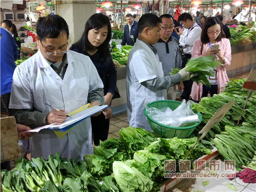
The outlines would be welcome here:
[[[87,103],[88,93],[103,88],[103,83],[88,56],[67,52],[68,68],[63,80],[38,51],[19,65],[13,75],[10,109],[30,109],[49,113],[49,103],[67,113]],[[92,154],[91,119],[85,119],[59,139],[51,130],[42,130],[30,138],[31,157],[60,153],[62,158],[82,159]]]

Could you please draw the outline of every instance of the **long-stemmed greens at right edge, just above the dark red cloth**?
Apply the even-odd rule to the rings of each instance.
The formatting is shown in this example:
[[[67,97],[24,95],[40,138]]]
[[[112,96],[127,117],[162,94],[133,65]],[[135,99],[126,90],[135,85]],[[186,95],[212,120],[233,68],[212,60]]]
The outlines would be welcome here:
[[[235,160],[236,167],[248,165],[256,151],[255,127],[243,123],[242,126],[225,126],[225,132],[215,135],[213,140],[218,152],[226,160]]]

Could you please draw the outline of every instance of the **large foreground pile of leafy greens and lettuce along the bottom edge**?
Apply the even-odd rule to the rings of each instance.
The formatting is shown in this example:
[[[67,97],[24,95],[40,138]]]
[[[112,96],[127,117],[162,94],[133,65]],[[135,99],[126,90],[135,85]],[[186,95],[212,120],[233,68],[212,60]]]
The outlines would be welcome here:
[[[120,140],[100,142],[94,155],[83,161],[62,159],[57,153],[48,160],[19,159],[14,169],[2,171],[4,191],[159,191],[163,184],[164,160],[181,160],[197,138],[163,139],[140,128],[126,127]],[[202,143],[186,159],[211,154]]]

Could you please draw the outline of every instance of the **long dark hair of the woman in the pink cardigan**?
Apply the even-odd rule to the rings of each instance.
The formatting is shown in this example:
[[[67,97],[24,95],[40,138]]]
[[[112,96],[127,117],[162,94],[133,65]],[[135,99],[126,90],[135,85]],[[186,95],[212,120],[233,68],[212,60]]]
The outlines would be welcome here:
[[[221,32],[220,32],[219,36],[216,38],[216,41],[220,41],[222,38],[226,37],[225,33],[222,30],[221,21],[217,17],[207,17],[206,20],[205,20],[205,23],[204,23],[202,33],[201,33],[201,42],[203,44],[208,44],[208,42],[209,42],[209,37],[208,37],[208,34],[207,34],[208,28],[212,27],[214,25],[217,25],[217,24],[220,25]]]

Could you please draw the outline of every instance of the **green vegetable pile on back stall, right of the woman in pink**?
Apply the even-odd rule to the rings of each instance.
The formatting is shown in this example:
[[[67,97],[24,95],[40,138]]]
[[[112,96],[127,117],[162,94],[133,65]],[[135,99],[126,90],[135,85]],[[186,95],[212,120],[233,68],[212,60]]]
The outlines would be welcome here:
[[[229,28],[229,31],[231,34],[229,39],[231,46],[248,44],[256,41],[256,31],[251,30],[251,28],[247,26],[239,25],[236,28]]]

